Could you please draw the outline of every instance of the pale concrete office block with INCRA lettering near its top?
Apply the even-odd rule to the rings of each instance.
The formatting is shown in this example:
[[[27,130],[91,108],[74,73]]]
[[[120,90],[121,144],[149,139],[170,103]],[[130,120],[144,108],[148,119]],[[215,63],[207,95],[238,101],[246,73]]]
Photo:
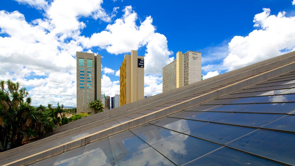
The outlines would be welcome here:
[[[201,78],[201,53],[178,51],[176,60],[163,67],[163,92],[201,81]]]

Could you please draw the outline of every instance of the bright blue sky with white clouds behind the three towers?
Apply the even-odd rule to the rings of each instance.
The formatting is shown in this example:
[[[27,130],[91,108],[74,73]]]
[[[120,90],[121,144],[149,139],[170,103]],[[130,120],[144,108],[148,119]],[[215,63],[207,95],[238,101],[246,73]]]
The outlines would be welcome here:
[[[71,105],[76,51],[103,56],[101,90],[114,96],[124,54],[138,50],[155,95],[178,51],[202,53],[205,79],[295,51],[295,0],[0,0],[0,30],[0,80],[37,105]]]

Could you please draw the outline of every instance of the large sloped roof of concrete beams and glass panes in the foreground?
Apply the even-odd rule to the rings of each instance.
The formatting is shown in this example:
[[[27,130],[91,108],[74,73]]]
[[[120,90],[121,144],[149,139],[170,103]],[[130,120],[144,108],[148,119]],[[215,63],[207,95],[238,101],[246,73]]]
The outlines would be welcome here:
[[[1,165],[295,165],[295,52],[61,126]]]

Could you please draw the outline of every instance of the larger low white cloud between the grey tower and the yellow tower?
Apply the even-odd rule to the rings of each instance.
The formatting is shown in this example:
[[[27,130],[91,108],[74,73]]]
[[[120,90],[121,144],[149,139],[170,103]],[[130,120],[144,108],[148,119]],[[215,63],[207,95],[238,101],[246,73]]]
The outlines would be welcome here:
[[[114,97],[115,94],[120,94],[120,81],[111,81],[105,74],[102,75],[101,79],[101,94],[106,96]]]

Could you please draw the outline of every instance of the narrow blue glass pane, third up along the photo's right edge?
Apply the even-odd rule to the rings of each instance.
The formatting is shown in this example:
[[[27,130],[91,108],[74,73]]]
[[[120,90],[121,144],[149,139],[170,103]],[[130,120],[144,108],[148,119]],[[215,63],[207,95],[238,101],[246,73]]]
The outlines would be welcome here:
[[[295,110],[295,103],[267,103],[253,104],[249,107],[242,108],[236,112],[249,113],[289,113]]]

